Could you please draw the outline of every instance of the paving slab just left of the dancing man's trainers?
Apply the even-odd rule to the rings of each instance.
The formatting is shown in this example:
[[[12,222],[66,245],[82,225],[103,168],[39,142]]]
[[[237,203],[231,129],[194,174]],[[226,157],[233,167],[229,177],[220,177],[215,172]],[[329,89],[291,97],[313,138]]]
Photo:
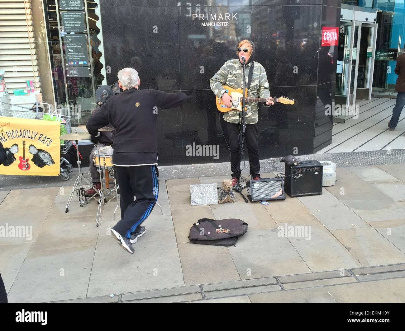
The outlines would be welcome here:
[[[96,246],[99,230],[90,218],[47,217],[30,251]]]

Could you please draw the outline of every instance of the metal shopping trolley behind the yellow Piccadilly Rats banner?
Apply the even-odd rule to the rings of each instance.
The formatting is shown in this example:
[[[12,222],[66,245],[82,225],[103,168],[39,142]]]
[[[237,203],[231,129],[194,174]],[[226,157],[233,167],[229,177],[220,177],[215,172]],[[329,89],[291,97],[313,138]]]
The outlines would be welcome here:
[[[0,116],[15,117],[22,119],[40,119],[43,120],[44,114],[51,114],[51,105],[47,103],[36,102],[31,108],[19,106],[16,104],[9,104],[8,102],[0,101]],[[71,132],[70,116],[58,115],[63,119],[63,125],[66,133]],[[72,141],[65,140],[64,144],[60,145],[60,154],[66,154],[72,147]],[[64,157],[60,157],[60,178],[62,180],[68,180],[70,178],[70,172],[73,170],[73,165]]]

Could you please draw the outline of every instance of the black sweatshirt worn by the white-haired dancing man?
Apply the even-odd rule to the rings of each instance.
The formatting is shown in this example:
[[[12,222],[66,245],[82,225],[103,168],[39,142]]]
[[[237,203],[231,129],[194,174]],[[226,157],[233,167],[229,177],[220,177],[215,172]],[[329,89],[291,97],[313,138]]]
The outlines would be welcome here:
[[[119,159],[126,159],[126,165],[149,163],[149,153],[158,153],[156,121],[160,109],[176,108],[186,100],[187,95],[183,92],[125,90],[107,100],[89,118],[86,128],[90,134],[96,135],[97,129],[110,123],[115,127],[111,146],[113,154],[120,153]]]

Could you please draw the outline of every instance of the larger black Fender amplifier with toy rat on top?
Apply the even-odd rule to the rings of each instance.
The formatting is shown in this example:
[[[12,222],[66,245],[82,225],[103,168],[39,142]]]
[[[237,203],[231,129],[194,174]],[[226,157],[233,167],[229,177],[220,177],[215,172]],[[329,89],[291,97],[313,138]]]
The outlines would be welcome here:
[[[322,194],[323,165],[316,160],[301,161],[299,165],[286,164],[284,189],[290,197]]]

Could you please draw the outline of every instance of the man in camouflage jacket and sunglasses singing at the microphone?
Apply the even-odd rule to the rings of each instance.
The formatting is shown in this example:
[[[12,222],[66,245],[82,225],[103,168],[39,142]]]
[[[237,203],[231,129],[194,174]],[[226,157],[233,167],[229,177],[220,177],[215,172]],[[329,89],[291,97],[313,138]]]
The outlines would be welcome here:
[[[245,57],[245,77],[246,86],[248,84],[248,73],[253,66],[252,80],[248,87],[248,98],[266,98],[267,101],[264,106],[270,107],[274,102],[271,100],[269,91],[269,82],[267,81],[266,70],[258,62],[253,62],[254,57],[254,43],[250,40],[242,40],[237,48],[237,55],[239,58],[232,59],[221,67],[221,69],[211,78],[209,84],[212,91],[222,100],[225,105],[230,108],[232,106],[232,98],[222,85],[227,85],[233,89],[240,89],[242,87],[242,68],[243,59]],[[249,152],[249,166],[250,174],[253,180],[260,178],[260,163],[259,163],[259,133],[258,133],[258,110],[257,102],[245,102],[246,115],[245,122],[246,131],[245,139],[247,150]],[[232,187],[238,182],[241,175],[241,144],[239,142],[239,134],[241,134],[241,112],[238,110],[230,110],[224,112],[224,120],[228,127],[229,134],[229,148],[230,148],[230,165],[232,171]]]

